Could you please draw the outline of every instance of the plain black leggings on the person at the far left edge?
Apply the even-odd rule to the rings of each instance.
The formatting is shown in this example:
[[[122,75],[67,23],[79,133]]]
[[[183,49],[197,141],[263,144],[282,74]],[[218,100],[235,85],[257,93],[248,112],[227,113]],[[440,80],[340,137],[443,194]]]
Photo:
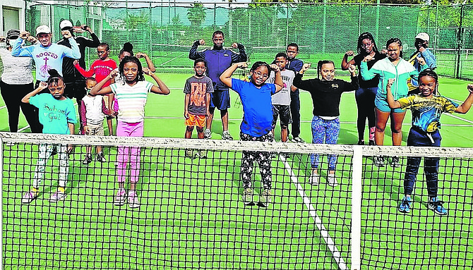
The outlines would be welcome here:
[[[8,85],[0,80],[1,97],[4,98],[6,109],[8,110],[8,125],[10,132],[18,131],[18,119],[20,117],[20,108],[25,115],[26,121],[30,124],[32,133],[42,133],[42,125],[38,118],[38,111],[35,106],[21,102],[26,94],[32,92],[33,83],[27,85]]]

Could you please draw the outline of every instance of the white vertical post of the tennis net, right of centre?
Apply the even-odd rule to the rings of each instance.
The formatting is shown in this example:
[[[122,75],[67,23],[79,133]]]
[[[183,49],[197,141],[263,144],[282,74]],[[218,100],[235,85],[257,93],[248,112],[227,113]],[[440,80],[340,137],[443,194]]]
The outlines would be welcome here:
[[[363,147],[353,146],[352,160],[352,270],[361,269],[361,179],[363,176]]]

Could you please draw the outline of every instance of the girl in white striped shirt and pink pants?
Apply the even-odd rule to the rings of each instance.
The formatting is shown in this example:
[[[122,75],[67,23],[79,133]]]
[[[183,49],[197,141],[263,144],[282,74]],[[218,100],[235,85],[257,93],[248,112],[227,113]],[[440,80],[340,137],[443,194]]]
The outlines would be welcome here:
[[[148,92],[155,94],[169,94],[169,88],[157,78],[148,68],[142,68],[140,61],[134,56],[125,56],[119,66],[119,73],[125,79],[125,83],[114,83],[103,87],[109,80],[118,75],[117,70],[113,70],[107,78],[104,78],[90,94],[115,94],[118,100],[119,113],[118,124],[116,125],[116,135],[123,137],[143,137],[143,123],[145,118],[145,104]],[[145,80],[143,73],[150,75],[157,85]],[[103,88],[102,88],[103,87]],[[139,147],[118,147],[118,182],[119,190],[116,192],[115,205],[121,206],[128,200],[131,208],[139,207],[138,196],[136,195],[136,183],[140,171],[140,148]],[[126,166],[130,159],[130,185],[128,196],[125,191]]]

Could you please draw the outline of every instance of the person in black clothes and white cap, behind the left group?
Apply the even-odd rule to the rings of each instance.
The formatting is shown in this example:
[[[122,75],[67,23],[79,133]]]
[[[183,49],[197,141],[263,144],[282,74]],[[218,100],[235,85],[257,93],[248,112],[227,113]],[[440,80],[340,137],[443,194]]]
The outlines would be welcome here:
[[[90,33],[90,37],[92,39],[89,39],[87,37],[82,37],[74,36],[74,27],[69,20],[62,20],[61,23],[59,23],[59,27],[61,27],[61,34],[65,35],[68,32],[71,33],[72,39],[75,39],[77,42],[77,45],[79,47],[80,51],[80,59],[79,60],[79,66],[82,67],[83,69],[85,68],[85,48],[90,47],[90,48],[97,48],[100,44],[99,37],[95,35],[94,32],[92,32],[92,29],[88,25],[83,25],[80,26],[79,31],[86,31]],[[57,42],[59,45],[66,46],[68,48],[71,48],[71,43],[69,42],[69,39],[64,36],[59,42]],[[76,68],[74,68],[74,60],[70,57],[65,57],[62,61],[62,73],[64,77],[64,83],[66,83],[66,88],[64,89],[64,96],[72,99],[73,97],[76,98],[76,102],[79,105],[78,108],[80,108],[80,101],[85,97],[85,78],[83,75],[81,75]],[[80,113],[79,113],[80,116]],[[80,130],[82,131],[82,125],[80,126]]]

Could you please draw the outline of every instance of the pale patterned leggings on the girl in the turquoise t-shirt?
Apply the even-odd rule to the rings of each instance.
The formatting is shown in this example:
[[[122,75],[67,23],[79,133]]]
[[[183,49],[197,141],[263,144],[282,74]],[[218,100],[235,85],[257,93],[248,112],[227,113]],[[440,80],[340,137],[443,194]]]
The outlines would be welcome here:
[[[69,172],[67,161],[67,145],[56,144],[40,144],[40,153],[35,168],[35,176],[33,177],[33,188],[40,188],[44,178],[44,170],[46,168],[47,159],[51,157],[52,150],[56,147],[59,154],[59,186],[66,187],[66,180]]]

